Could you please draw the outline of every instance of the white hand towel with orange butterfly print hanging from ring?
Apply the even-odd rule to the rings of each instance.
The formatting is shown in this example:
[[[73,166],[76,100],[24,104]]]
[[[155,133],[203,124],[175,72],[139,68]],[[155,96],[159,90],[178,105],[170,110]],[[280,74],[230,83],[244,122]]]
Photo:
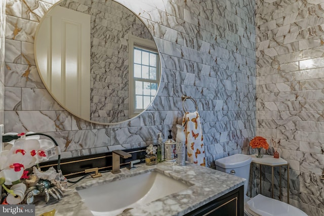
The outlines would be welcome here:
[[[187,161],[205,166],[205,146],[198,112],[186,112],[182,125],[186,136]]]

